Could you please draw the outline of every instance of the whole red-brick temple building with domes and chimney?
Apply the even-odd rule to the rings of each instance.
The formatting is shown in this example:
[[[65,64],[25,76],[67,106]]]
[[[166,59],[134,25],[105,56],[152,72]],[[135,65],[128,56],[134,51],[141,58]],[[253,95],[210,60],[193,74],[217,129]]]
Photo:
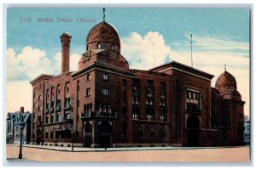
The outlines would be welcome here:
[[[84,35],[85,37],[85,35]],[[172,61],[129,68],[118,32],[89,31],[78,71],[61,35],[61,75],[32,80],[32,144],[75,147],[241,145],[244,101],[228,71],[212,75]]]

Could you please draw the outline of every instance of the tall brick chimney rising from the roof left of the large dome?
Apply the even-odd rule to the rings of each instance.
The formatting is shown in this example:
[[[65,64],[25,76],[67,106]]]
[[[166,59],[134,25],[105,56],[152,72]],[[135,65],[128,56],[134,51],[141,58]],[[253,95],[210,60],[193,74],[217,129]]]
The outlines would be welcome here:
[[[61,73],[69,71],[69,45],[71,37],[68,33],[61,34]]]

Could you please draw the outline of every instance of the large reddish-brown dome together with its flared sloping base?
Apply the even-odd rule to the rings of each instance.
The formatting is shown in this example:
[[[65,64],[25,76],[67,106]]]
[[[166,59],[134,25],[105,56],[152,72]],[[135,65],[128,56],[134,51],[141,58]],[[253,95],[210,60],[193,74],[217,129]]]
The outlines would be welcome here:
[[[119,34],[108,22],[102,21],[93,26],[87,34],[85,44],[85,53],[79,60],[79,70],[94,63],[129,70],[127,60],[120,54]]]

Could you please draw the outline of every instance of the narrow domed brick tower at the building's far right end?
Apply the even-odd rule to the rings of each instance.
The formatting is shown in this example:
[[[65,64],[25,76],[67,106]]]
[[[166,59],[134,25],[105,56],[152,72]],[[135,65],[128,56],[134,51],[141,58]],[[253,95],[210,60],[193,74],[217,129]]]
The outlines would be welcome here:
[[[215,88],[219,92],[218,126],[223,133],[224,145],[241,145],[243,141],[244,104],[237,91],[236,78],[224,71],[217,79]],[[221,137],[220,137],[221,138]]]

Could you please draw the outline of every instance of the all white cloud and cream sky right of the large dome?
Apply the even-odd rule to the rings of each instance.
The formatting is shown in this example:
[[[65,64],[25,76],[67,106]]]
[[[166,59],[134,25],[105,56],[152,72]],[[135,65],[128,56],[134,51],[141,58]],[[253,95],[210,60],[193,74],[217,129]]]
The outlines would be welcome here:
[[[136,69],[148,70],[163,65],[166,58],[190,66],[189,38],[187,42],[174,43],[175,51],[165,44],[164,37],[158,32],[148,32],[144,37],[133,32],[131,36],[122,38],[122,53]],[[194,67],[215,76],[212,87],[224,72],[224,64],[227,65],[227,71],[236,77],[237,89],[246,101],[245,114],[249,115],[249,43],[193,35],[193,48]]]

